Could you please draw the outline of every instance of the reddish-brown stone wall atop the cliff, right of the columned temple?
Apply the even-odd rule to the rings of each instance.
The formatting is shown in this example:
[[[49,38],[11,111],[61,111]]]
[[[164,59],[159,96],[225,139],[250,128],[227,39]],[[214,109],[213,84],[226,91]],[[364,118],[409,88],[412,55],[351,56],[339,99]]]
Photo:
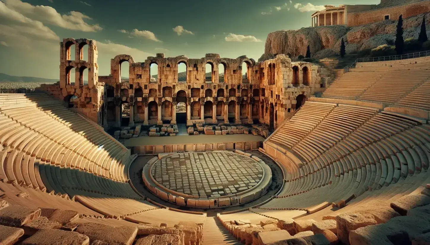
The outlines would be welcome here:
[[[348,12],[347,26],[353,27],[383,21],[385,15],[390,15],[391,20],[397,20],[400,15],[403,15],[402,17],[405,19],[427,12],[430,12],[430,1],[428,0],[388,8],[378,8],[365,12]]]

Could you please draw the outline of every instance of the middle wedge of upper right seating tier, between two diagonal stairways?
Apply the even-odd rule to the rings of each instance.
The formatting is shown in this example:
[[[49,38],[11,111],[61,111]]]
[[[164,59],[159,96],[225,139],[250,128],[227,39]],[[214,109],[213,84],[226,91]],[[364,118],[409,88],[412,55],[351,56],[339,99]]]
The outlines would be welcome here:
[[[390,70],[390,72],[382,76],[378,82],[368,88],[359,97],[359,100],[394,103],[429,78],[430,70]]]

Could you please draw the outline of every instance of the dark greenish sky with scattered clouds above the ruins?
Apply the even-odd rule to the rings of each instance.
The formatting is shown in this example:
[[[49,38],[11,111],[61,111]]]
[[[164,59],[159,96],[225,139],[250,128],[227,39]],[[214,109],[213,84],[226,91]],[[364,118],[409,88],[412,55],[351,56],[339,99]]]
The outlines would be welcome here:
[[[63,38],[97,41],[99,75],[110,60],[136,62],[164,53],[201,58],[206,53],[258,60],[267,34],[310,27],[323,5],[355,0],[0,0],[0,73],[59,78]],[[360,0],[378,4],[380,0]],[[181,72],[181,71],[180,71]],[[151,74],[154,74],[151,71]]]

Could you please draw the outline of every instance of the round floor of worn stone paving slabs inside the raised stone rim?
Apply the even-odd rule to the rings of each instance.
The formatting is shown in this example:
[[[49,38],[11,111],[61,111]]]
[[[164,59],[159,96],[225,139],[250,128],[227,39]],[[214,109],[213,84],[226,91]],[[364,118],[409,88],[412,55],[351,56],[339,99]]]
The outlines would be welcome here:
[[[154,179],[172,191],[200,197],[220,197],[245,191],[263,177],[260,164],[230,152],[192,152],[154,163]]]

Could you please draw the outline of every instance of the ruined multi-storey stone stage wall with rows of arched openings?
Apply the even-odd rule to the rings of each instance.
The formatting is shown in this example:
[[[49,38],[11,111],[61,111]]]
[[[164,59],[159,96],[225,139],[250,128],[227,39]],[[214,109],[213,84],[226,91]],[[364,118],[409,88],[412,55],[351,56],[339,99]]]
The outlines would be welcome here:
[[[71,47],[75,45],[75,60]],[[89,45],[89,60],[82,60],[83,46]],[[157,54],[144,62],[135,62],[128,54],[111,59],[111,74],[98,76],[97,46],[94,40],[63,39],[60,43],[60,83],[42,85],[75,111],[110,127],[163,123],[264,123],[276,127],[289,113],[298,109],[314,92],[321,91],[326,69],[312,63],[292,63],[284,54],[264,62],[246,56],[236,59],[206,54],[200,59],[184,55],[164,57]],[[129,80],[121,81],[121,64],[129,62]],[[187,67],[186,81],[178,81],[178,64]],[[158,76],[150,74],[151,64],[158,65]],[[212,80],[206,81],[206,64],[212,66]],[[224,65],[218,71],[219,64]],[[246,65],[247,77],[242,76]],[[74,85],[70,81],[75,68]],[[83,71],[88,69],[88,85],[83,85]],[[218,73],[224,73],[219,81]],[[76,97],[74,97],[76,96]],[[123,104],[129,105],[129,125],[121,125]],[[177,108],[185,108],[177,112]],[[177,113],[178,114],[177,118]],[[179,122],[178,122],[179,120]]]

